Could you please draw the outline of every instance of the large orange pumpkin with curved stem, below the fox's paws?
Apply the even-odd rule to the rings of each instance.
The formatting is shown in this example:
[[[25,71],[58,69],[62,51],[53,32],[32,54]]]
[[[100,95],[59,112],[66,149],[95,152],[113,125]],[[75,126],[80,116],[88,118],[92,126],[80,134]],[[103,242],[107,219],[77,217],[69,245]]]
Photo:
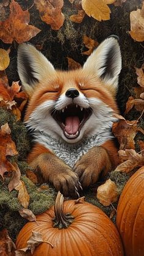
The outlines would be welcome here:
[[[58,192],[55,207],[27,222],[16,240],[16,248],[27,246],[32,232],[40,232],[43,240],[34,256],[120,256],[123,247],[117,228],[98,207],[84,202],[84,197],[63,202]]]

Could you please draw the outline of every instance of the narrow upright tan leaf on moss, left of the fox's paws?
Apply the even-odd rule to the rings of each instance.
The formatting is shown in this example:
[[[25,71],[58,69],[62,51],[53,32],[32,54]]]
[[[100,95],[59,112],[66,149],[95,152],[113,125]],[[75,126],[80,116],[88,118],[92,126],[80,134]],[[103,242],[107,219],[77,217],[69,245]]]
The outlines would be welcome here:
[[[18,165],[16,163],[13,163],[13,166],[15,167],[15,170],[13,170],[12,172],[12,178],[8,185],[10,192],[18,185],[21,177],[21,172],[20,172],[20,169],[18,168]]]

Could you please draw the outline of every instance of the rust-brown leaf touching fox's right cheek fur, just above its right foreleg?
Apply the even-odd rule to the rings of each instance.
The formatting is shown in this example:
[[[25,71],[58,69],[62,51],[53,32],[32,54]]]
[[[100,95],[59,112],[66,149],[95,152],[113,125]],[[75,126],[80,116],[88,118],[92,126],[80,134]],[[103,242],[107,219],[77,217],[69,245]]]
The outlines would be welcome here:
[[[120,149],[135,149],[134,137],[139,131],[137,122],[137,120],[120,120],[120,122],[113,123],[112,132],[118,139]]]

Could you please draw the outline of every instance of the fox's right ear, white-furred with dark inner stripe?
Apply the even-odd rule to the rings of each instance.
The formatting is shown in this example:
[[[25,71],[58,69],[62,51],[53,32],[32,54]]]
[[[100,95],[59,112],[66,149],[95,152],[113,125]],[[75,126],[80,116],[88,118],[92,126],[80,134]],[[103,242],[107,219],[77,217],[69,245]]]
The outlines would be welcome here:
[[[88,57],[83,68],[95,73],[113,89],[117,89],[118,75],[121,71],[121,51],[118,37],[111,35],[104,40]]]

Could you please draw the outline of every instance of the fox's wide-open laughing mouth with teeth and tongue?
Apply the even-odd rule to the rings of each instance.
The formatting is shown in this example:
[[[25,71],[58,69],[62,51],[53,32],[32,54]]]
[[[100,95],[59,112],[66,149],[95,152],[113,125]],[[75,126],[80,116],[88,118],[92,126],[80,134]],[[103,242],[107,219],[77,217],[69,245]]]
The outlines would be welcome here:
[[[75,139],[79,136],[82,126],[91,114],[91,108],[82,108],[76,104],[70,104],[61,111],[53,109],[51,112],[52,117],[59,123],[68,139]]]

